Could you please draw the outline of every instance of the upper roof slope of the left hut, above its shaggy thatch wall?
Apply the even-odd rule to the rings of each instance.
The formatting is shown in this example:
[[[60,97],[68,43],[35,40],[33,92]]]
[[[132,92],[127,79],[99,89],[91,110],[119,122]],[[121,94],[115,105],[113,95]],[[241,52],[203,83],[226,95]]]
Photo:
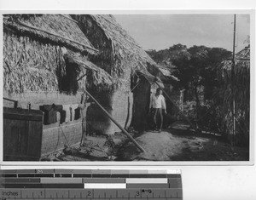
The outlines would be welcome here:
[[[80,52],[98,52],[68,14],[5,14],[3,24],[6,31],[18,31]]]

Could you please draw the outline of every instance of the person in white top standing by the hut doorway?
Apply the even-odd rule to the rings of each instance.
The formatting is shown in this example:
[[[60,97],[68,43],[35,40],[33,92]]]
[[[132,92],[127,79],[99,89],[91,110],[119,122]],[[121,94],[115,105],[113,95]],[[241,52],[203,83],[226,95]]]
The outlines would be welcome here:
[[[150,98],[150,108],[154,115],[154,128],[155,131],[161,132],[163,126],[163,110],[166,112],[166,100],[162,95],[162,89],[156,89],[156,93],[152,94]]]

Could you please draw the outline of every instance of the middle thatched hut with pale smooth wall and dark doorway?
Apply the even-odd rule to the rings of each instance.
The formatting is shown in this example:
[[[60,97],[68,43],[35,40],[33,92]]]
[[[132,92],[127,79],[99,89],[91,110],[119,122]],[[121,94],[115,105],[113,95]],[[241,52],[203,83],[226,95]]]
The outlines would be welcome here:
[[[96,94],[96,99],[123,127],[143,129],[151,88],[145,76],[152,77],[153,74],[160,77],[163,76],[162,71],[113,15],[81,14],[72,17],[79,22],[79,27],[92,45],[100,51],[99,54],[90,55],[90,60],[113,77],[113,88]],[[165,69],[163,71],[167,73]],[[97,107],[92,107],[91,112],[95,114],[90,119],[92,131],[103,134],[118,131]]]

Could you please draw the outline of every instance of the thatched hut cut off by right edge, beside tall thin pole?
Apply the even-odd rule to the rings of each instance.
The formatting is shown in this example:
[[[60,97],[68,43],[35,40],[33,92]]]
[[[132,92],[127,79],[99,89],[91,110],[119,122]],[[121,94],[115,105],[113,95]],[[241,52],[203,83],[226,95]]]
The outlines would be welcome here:
[[[249,146],[250,128],[250,46],[242,49],[235,56],[234,97],[236,105],[236,133],[233,134],[233,95],[231,82],[232,60],[222,63],[222,77],[224,89],[222,96],[223,131],[233,145]]]

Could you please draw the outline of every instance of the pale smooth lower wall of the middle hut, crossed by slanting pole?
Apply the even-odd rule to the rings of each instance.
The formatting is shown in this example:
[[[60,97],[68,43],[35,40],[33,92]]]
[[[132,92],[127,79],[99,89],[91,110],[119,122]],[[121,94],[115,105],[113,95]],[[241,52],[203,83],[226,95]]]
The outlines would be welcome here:
[[[121,88],[113,93],[97,94],[95,98],[123,128],[125,125],[126,127],[130,126],[133,104],[131,92]],[[89,134],[114,134],[121,131],[95,104],[88,107],[86,116]]]

